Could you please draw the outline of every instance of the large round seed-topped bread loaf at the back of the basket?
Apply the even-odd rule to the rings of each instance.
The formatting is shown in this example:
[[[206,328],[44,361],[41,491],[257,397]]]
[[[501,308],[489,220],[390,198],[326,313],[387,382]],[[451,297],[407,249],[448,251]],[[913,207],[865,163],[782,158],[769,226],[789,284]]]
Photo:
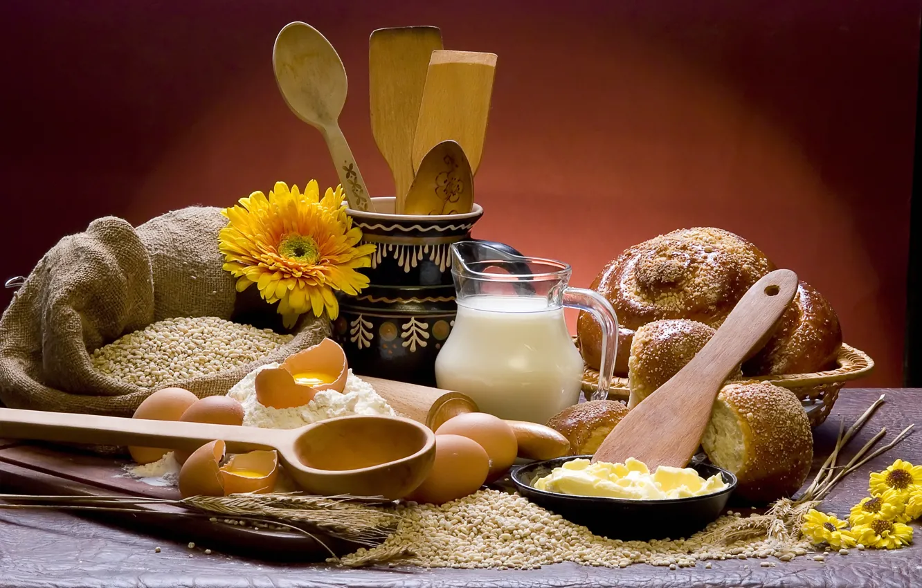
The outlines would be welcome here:
[[[591,288],[611,302],[625,333],[616,373],[627,372],[623,353],[632,332],[663,319],[690,319],[717,327],[742,295],[774,265],[751,242],[723,229],[674,230],[634,245],[606,265]],[[598,369],[601,331],[583,312],[577,322],[579,347]]]

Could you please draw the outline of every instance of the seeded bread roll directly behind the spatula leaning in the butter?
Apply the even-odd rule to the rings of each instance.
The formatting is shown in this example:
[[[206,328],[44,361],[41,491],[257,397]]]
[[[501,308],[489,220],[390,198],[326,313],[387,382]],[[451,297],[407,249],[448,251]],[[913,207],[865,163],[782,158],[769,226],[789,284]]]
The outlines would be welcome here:
[[[715,329],[704,323],[686,319],[654,321],[637,329],[628,361],[628,387],[631,389],[628,408],[637,406],[668,382],[715,333]],[[742,374],[737,368],[728,379],[740,377]]]

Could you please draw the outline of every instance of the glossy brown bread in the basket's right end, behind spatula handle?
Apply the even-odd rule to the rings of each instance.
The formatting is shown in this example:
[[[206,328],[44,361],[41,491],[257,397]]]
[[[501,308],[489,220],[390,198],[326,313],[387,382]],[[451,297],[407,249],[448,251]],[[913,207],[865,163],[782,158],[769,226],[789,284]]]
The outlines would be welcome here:
[[[842,347],[842,327],[829,301],[801,281],[781,320],[743,372],[752,376],[831,370]]]

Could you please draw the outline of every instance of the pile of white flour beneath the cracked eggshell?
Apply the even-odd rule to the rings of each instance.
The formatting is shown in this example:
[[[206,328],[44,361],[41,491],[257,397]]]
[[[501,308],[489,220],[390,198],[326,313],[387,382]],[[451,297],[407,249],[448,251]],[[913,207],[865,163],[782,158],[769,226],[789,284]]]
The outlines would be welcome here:
[[[292,408],[263,406],[256,400],[256,374],[269,368],[278,368],[278,363],[268,363],[251,371],[237,382],[227,395],[243,406],[243,426],[263,429],[297,429],[318,420],[349,415],[380,415],[396,417],[387,401],[374,392],[372,384],[364,382],[349,370],[346,388],[342,394],[335,390],[318,392],[311,402]]]

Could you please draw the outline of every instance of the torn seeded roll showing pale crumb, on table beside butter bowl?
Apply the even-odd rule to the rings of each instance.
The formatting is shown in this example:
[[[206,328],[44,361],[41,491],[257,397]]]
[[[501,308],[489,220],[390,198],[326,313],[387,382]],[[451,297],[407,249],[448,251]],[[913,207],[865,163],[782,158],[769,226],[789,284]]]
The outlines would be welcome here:
[[[810,419],[798,397],[774,384],[730,383],[702,439],[711,463],[736,474],[736,495],[771,502],[793,495],[813,461]]]

